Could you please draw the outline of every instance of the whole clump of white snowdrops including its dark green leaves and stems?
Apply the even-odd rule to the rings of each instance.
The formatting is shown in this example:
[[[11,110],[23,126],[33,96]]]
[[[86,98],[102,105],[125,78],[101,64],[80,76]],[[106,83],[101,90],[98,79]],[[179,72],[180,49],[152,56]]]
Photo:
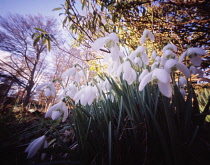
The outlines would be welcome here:
[[[197,67],[206,52],[192,47],[178,56],[177,47],[167,44],[162,54],[155,50],[148,54],[144,46],[147,40],[155,41],[155,37],[146,29],[141,45],[126,55],[119,47],[117,34],[99,38],[92,44],[92,50],[97,52],[104,47],[110,50],[106,57],[109,66],[103,74],[88,81],[87,70],[75,64],[62,74],[59,94],[56,95],[53,82],[41,85],[39,89],[44,89],[46,96],[57,97],[45,117],[55,120],[56,126],[61,122],[66,125],[59,131],[54,125],[32,141],[26,149],[27,158],[36,155],[40,148],[53,148],[55,134],[68,131],[75,136],[65,147],[69,152],[77,151],[79,161],[84,164],[123,164],[123,156],[115,153],[116,144],[123,138],[128,138],[126,152],[131,147],[129,140],[132,144],[147,141],[143,143],[145,161],[149,161],[149,153],[156,153],[157,160],[162,157],[160,164],[180,164],[183,145],[186,148],[193,145],[205,120],[205,116],[196,117],[201,112],[190,78],[192,74],[202,77]],[[187,66],[185,60],[190,61]],[[138,129],[146,132],[142,139],[138,139]],[[44,152],[42,149],[42,159]]]

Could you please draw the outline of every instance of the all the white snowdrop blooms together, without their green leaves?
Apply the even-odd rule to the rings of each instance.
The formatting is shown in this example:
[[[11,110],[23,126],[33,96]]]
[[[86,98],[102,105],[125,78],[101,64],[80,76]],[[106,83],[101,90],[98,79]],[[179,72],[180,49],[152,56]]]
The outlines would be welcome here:
[[[157,85],[162,95],[170,98],[173,92],[171,75],[179,72],[181,76],[177,86],[180,89],[180,93],[185,96],[187,78],[190,78],[191,74],[202,76],[202,71],[195,66],[201,64],[201,56],[205,55],[205,51],[201,48],[188,48],[179,58],[177,47],[169,43],[162,49],[162,56],[158,55],[154,50],[149,58],[147,48],[142,45],[147,38],[151,41],[155,40],[154,35],[146,29],[140,38],[141,45],[127,56],[120,50],[119,38],[115,33],[97,39],[92,43],[92,50],[98,51],[101,48],[108,48],[111,61],[109,61],[106,74],[109,74],[117,82],[120,82],[119,78],[122,78],[128,85],[133,85],[134,83],[139,85],[139,92],[143,91],[145,86],[151,83]],[[186,58],[189,58],[192,63],[189,66],[183,63]],[[109,95],[109,98],[114,100],[113,93],[110,92],[112,86],[106,78],[97,76],[93,79],[94,81],[82,84],[81,79],[86,77],[86,73],[84,69],[78,66],[74,65],[62,74],[62,81],[71,78],[75,82],[71,81],[66,87],[63,87],[58,96],[58,102],[47,110],[46,118],[51,117],[52,120],[62,118],[62,122],[65,122],[69,115],[68,106],[65,102],[68,98],[72,99],[75,104],[82,106],[91,106],[94,101],[103,98],[101,97],[102,93]],[[55,96],[55,87],[52,82],[41,85],[39,89],[43,87],[45,87],[46,96]],[[36,154],[37,150],[45,143],[45,138],[45,136],[42,136],[28,146],[26,149],[28,158]]]

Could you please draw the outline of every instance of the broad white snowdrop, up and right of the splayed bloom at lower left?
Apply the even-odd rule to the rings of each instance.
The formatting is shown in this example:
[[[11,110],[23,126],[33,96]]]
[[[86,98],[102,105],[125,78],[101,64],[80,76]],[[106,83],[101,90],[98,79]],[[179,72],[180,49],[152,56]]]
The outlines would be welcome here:
[[[74,100],[77,104],[79,101],[80,103],[85,105],[91,105],[97,96],[97,88],[95,86],[83,86],[80,91],[78,91],[75,96]]]

